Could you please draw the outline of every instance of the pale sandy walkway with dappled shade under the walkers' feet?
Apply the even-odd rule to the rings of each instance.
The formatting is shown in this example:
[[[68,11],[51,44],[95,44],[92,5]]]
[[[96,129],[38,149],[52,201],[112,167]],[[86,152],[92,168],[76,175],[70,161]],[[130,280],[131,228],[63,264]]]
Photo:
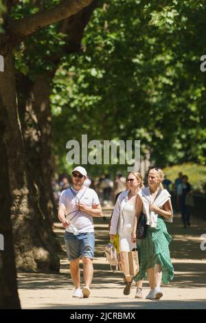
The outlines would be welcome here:
[[[95,259],[92,294],[87,299],[72,298],[73,285],[69,276],[66,253],[60,254],[60,274],[25,274],[19,276],[19,296],[23,309],[206,309],[206,250],[201,251],[201,234],[206,234],[206,221],[192,219],[192,227],[185,230],[176,216],[168,224],[172,235],[170,244],[174,280],[163,286],[161,300],[137,300],[133,287],[129,296],[123,295],[121,273],[113,274],[104,257],[108,242],[108,219],[111,210],[104,210],[104,219],[95,219]],[[65,250],[63,230],[56,223],[56,233]],[[144,282],[144,297],[149,291]]]

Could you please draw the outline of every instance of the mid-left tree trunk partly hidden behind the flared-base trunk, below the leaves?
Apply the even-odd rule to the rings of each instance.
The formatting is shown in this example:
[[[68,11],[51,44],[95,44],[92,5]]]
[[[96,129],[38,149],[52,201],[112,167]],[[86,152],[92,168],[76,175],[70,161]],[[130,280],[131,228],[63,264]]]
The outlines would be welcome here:
[[[57,210],[52,192],[52,115],[49,102],[51,78],[50,74],[44,74],[31,82],[25,76],[18,76],[17,91],[21,93],[19,111],[30,174],[38,191],[45,221],[52,228]]]

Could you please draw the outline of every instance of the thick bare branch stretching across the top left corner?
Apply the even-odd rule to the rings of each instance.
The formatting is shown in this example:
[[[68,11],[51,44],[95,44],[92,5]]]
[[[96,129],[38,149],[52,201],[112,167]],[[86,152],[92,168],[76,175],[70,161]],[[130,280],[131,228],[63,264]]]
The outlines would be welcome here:
[[[9,21],[7,29],[10,33],[18,35],[19,37],[28,36],[47,25],[76,14],[82,8],[87,7],[92,1],[64,0],[54,8],[41,10],[23,19]]]

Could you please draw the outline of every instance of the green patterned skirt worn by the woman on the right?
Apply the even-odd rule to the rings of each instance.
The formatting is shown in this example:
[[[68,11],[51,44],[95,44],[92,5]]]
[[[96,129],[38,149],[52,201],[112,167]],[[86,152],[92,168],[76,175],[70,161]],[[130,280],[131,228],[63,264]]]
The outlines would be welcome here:
[[[167,227],[162,216],[158,216],[157,227],[148,227],[146,238],[137,241],[139,251],[139,274],[134,280],[143,280],[146,278],[146,271],[155,267],[155,264],[161,265],[162,282],[168,284],[173,279],[174,268],[170,259],[169,243],[172,240],[168,234]]]

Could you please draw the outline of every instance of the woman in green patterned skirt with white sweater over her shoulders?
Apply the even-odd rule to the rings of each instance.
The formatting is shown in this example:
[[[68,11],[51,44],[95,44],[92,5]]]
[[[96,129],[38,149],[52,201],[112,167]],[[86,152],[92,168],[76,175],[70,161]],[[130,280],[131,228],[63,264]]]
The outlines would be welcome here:
[[[168,284],[173,279],[174,269],[170,260],[169,243],[172,240],[168,234],[165,221],[172,222],[172,204],[170,193],[163,189],[163,172],[160,168],[152,168],[148,174],[147,188],[142,188],[137,195],[135,222],[132,241],[137,241],[136,230],[141,212],[147,223],[146,238],[141,240],[140,269],[135,280],[148,276],[150,293],[146,298],[156,300],[163,296],[161,281]]]

